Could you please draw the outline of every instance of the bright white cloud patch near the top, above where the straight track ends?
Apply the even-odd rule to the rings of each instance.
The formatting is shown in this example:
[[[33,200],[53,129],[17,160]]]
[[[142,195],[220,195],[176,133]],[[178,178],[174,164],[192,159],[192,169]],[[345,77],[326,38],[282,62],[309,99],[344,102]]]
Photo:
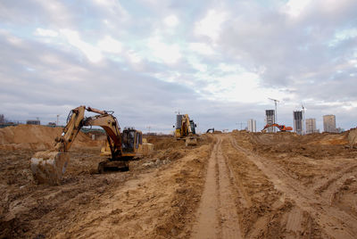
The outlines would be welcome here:
[[[195,34],[210,37],[213,41],[216,41],[220,36],[220,25],[226,20],[226,12],[210,10],[203,20],[195,23]]]

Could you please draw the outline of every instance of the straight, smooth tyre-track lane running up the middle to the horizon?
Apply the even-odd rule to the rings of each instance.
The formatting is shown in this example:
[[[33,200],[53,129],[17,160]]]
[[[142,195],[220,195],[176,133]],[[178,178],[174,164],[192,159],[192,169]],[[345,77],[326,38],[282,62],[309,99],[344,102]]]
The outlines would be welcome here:
[[[208,162],[203,195],[197,211],[192,238],[242,238],[234,188],[217,136]]]

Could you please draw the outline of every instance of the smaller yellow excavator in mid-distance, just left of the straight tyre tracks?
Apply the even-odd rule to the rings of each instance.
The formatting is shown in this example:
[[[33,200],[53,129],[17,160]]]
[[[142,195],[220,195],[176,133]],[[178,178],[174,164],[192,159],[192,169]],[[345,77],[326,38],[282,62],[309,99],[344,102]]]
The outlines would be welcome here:
[[[185,143],[187,146],[194,146],[197,144],[195,128],[195,121],[192,119],[190,120],[187,114],[178,114],[176,116],[176,139],[185,139]]]

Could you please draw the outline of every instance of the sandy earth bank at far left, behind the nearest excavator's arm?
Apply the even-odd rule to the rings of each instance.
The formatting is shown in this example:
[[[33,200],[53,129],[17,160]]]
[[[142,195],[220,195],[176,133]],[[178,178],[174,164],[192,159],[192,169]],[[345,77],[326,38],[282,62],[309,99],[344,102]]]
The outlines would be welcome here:
[[[61,133],[62,128],[35,125],[0,128],[0,149],[51,149],[54,146],[54,138],[60,136]],[[72,147],[93,147],[98,145],[100,145],[100,142],[92,141],[89,136],[79,132]]]

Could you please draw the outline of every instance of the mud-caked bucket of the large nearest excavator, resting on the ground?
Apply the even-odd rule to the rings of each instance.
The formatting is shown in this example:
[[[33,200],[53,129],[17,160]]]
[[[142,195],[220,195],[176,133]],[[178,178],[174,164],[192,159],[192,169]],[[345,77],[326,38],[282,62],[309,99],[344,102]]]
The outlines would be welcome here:
[[[30,168],[39,184],[59,185],[69,160],[67,152],[36,152],[30,160]]]

